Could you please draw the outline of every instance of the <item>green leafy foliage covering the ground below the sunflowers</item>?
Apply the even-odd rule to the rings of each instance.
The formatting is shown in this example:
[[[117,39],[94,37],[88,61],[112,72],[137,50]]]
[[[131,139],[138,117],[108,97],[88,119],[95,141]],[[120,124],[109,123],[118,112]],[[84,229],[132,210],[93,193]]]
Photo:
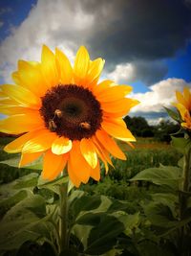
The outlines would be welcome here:
[[[177,150],[142,151],[145,141],[140,141],[138,150],[128,151],[128,161],[113,159],[115,170],[100,182],[81,190],[70,187],[69,248],[64,251],[57,232],[59,186],[68,179],[44,183],[40,162],[28,166],[30,174],[0,187],[0,255],[188,256],[191,194],[183,174],[185,159],[190,170],[191,144],[177,137],[172,144]],[[17,160],[2,165],[15,168]]]

